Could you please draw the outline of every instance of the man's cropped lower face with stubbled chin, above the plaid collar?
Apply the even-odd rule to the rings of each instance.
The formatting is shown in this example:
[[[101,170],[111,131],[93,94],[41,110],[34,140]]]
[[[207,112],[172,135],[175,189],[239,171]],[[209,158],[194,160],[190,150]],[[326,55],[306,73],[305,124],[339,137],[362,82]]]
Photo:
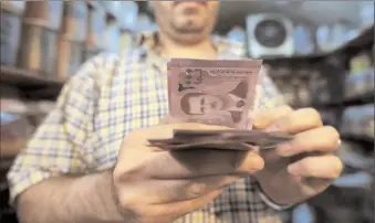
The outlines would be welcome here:
[[[212,31],[217,1],[154,1],[160,30],[181,42],[199,42]]]

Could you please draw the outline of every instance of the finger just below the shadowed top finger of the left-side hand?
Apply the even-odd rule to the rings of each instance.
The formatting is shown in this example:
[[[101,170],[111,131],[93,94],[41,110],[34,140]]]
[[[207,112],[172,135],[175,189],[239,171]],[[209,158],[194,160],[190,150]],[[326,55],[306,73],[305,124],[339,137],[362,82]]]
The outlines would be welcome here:
[[[243,176],[244,177],[244,176]],[[221,189],[241,176],[209,176],[180,180],[155,180],[153,192],[147,195],[147,201],[153,204],[165,204],[177,201],[197,199]]]

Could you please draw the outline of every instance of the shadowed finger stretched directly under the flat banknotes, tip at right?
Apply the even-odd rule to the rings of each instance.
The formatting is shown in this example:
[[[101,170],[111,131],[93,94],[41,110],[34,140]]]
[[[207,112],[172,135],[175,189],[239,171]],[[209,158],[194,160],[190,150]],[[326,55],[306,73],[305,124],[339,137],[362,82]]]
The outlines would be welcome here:
[[[171,180],[216,174],[251,174],[264,167],[263,159],[251,151],[195,149],[157,152],[142,171],[152,179]]]

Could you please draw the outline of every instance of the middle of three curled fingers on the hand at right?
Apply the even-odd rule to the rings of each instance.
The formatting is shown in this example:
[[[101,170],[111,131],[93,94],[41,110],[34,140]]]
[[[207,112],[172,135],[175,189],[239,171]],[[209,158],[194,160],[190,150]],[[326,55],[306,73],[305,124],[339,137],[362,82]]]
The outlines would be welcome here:
[[[302,152],[333,151],[340,146],[340,135],[331,126],[311,129],[296,134],[290,142],[278,147],[277,153],[281,157],[292,157]]]

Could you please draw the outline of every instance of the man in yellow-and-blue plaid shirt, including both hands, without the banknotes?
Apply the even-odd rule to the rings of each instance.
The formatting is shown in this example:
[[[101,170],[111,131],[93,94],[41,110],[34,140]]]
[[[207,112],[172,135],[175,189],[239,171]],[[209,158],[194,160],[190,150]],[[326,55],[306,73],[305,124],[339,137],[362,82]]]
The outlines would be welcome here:
[[[122,56],[85,63],[17,158],[8,179],[20,222],[273,223],[274,209],[317,194],[340,174],[332,155],[336,130],[323,127],[313,109],[275,107],[278,93],[265,76],[264,110],[254,124],[295,134],[292,142],[261,156],[147,146],[148,138],[168,137],[175,128],[225,128],[159,123],[167,115],[165,59],[225,57],[230,50],[209,38],[218,2],[154,6],[157,38],[144,38]]]

